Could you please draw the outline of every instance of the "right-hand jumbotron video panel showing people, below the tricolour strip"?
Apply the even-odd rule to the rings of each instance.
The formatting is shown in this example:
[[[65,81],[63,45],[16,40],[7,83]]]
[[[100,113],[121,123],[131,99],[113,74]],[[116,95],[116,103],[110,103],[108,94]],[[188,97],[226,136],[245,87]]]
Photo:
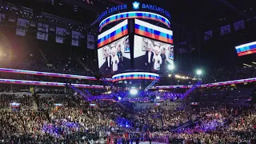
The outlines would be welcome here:
[[[134,68],[163,72],[174,65],[174,46],[154,39],[134,36]]]

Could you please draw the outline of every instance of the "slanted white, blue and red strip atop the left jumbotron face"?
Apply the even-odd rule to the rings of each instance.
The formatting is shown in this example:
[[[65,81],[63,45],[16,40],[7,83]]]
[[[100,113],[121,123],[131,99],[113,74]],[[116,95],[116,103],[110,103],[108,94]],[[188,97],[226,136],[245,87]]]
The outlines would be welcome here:
[[[106,30],[102,34],[98,35],[98,48],[114,42],[118,38],[122,38],[128,34],[128,20],[119,23],[117,26],[112,27],[110,30]]]

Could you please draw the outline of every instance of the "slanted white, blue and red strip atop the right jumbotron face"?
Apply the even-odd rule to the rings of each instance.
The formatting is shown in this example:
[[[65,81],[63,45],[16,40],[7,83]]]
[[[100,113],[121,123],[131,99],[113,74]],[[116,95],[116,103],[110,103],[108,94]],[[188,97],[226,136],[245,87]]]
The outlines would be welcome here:
[[[173,44],[173,31],[135,19],[135,34]]]

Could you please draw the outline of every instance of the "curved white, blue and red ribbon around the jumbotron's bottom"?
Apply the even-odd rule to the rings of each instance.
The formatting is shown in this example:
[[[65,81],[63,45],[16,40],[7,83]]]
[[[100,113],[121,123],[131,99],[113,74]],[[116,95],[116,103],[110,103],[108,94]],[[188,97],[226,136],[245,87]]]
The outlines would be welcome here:
[[[155,80],[157,78],[159,78],[159,74],[145,73],[145,72],[130,72],[130,73],[123,73],[123,74],[115,74],[112,77],[113,82],[129,80],[129,79]]]

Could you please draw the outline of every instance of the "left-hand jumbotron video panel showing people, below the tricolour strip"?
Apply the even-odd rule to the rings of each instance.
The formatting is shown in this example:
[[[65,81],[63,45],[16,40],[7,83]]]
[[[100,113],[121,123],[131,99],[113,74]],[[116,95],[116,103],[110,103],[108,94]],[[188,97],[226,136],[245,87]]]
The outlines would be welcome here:
[[[117,74],[130,67],[129,36],[98,49],[98,68],[102,74]]]

